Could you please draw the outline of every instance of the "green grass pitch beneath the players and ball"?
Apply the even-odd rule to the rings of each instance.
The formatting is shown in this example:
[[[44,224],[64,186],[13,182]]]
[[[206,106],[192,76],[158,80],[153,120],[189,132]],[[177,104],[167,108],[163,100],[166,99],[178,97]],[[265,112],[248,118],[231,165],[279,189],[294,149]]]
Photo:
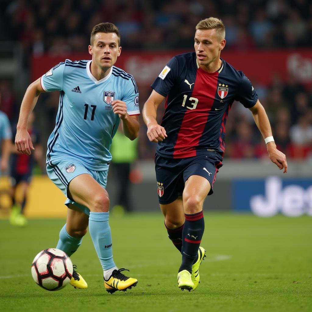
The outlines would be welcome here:
[[[55,247],[64,220],[0,221],[0,311],[312,311],[312,219],[205,213],[207,258],[194,292],[177,287],[181,256],[159,213],[112,216],[114,260],[138,285],[108,294],[89,233],[72,256],[88,282],[56,292],[32,280],[34,256]]]

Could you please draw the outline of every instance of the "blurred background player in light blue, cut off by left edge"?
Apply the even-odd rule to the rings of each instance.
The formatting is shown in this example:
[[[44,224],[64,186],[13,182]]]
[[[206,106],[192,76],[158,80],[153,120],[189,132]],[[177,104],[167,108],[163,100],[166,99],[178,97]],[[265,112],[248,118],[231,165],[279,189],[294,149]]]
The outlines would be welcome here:
[[[0,111],[0,177],[3,172],[7,171],[10,150],[11,150],[11,126],[7,115]]]

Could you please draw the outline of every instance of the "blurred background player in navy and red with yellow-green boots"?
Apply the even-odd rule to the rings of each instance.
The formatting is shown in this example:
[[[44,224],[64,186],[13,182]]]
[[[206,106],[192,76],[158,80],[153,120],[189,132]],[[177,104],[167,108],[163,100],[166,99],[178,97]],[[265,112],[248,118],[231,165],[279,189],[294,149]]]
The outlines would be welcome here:
[[[34,153],[20,154],[17,152],[15,144],[12,144],[12,154],[10,158],[10,185],[12,196],[12,210],[10,215],[10,223],[17,226],[25,226],[27,219],[25,218],[25,205],[27,201],[28,188],[32,179],[32,169],[35,160],[41,164],[42,146],[40,144],[40,132],[33,127],[35,114],[31,112],[28,118],[27,131],[32,139],[35,147]],[[12,127],[12,134],[15,138],[16,125]],[[17,189],[21,191],[21,201],[16,201]]]

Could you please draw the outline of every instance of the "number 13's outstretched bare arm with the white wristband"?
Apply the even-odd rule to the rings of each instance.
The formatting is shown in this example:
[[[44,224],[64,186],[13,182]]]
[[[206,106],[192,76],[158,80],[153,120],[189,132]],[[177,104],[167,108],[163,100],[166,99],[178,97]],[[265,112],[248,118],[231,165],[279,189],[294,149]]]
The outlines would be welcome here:
[[[255,123],[262,134],[263,139],[272,136],[270,121],[260,101],[257,100],[256,105],[251,107],[250,110],[253,118],[255,119]],[[271,161],[275,163],[278,168],[284,169],[284,173],[287,173],[286,156],[276,148],[274,141],[268,142],[266,144],[266,149],[268,151]]]

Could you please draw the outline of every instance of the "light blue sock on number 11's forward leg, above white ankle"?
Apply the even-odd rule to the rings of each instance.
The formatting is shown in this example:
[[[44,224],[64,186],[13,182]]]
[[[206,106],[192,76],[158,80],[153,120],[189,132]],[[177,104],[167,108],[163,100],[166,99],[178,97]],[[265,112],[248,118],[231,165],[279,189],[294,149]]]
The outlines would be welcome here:
[[[89,232],[103,270],[115,266],[113,260],[112,234],[108,224],[109,212],[90,212]]]

